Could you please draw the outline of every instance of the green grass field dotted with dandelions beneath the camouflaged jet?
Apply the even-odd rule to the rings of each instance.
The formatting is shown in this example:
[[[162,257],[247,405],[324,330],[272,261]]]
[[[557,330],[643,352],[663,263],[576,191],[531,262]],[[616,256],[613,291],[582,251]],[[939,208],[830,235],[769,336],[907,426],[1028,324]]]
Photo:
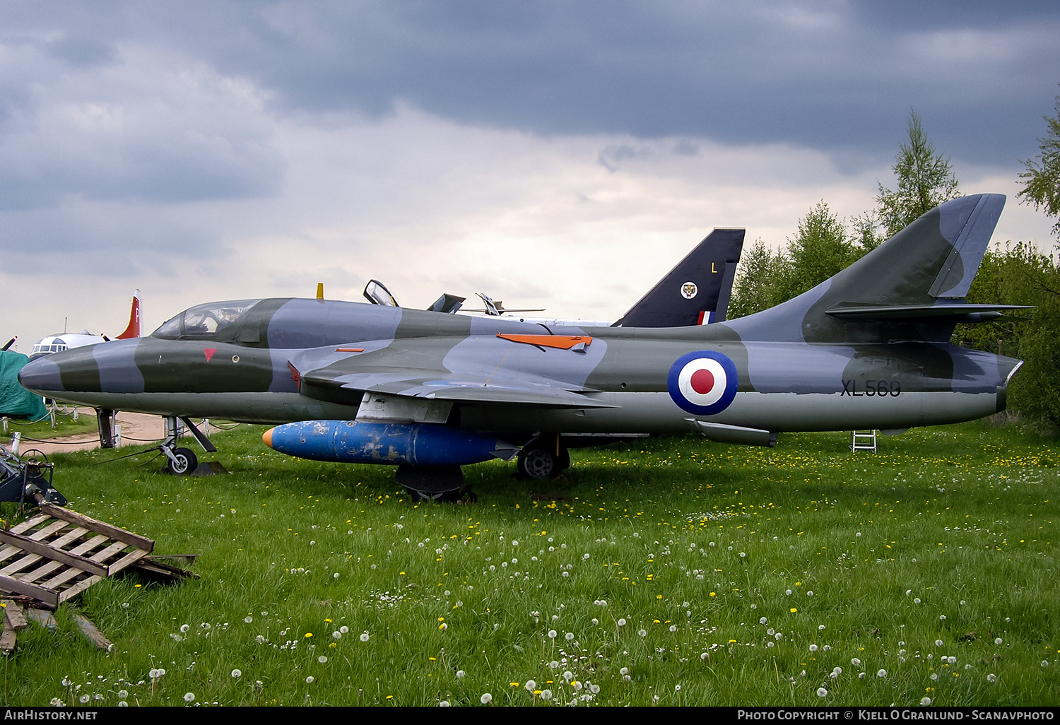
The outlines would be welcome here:
[[[201,579],[95,585],[78,606],[114,649],[64,607],[20,635],[5,703],[1060,702],[1060,448],[1019,428],[856,456],[843,434],[652,439],[544,483],[469,466],[467,505],[260,432],[216,436],[228,476],[56,457],[74,508],[201,554]]]

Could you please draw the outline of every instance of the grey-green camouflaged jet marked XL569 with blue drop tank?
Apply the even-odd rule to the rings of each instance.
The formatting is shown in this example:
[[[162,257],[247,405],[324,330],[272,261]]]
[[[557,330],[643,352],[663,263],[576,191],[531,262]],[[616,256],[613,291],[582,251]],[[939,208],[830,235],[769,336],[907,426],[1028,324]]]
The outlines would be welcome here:
[[[518,456],[555,475],[568,435],[700,434],[773,445],[795,430],[899,430],[1005,408],[1020,360],[951,346],[1005,197],[934,209],[776,307],[687,328],[549,328],[312,299],[216,302],[153,335],[22,368],[31,390],[159,415],[281,423],[302,458],[398,466],[426,497],[460,466]]]

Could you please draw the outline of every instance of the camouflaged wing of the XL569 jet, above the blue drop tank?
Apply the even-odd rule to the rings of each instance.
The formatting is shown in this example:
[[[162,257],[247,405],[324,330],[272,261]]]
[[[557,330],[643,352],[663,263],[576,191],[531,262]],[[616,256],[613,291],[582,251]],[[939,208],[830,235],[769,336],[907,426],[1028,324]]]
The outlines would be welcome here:
[[[589,397],[584,386],[571,389],[562,381],[505,370],[449,370],[428,355],[400,353],[406,366],[387,365],[385,349],[328,348],[295,356],[288,366],[302,394],[335,403],[356,404],[364,392],[478,405],[535,405],[551,408],[613,408]],[[332,352],[334,351],[334,353]],[[340,353],[339,351],[342,351]],[[340,356],[341,355],[341,356]],[[390,357],[389,355],[384,355]]]

